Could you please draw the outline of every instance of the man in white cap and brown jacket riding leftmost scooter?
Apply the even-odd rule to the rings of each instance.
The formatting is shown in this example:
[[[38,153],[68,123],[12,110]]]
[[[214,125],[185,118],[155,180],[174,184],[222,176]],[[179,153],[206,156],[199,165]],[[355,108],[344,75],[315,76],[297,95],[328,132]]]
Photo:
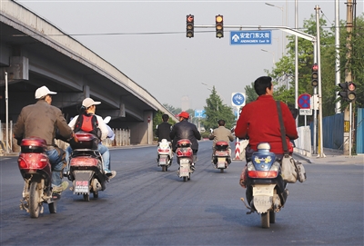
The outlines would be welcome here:
[[[68,182],[62,182],[61,172],[64,167],[65,151],[56,146],[56,131],[64,138],[73,136],[72,129],[60,109],[52,106],[52,94],[46,86],[35,91],[35,104],[25,106],[14,126],[14,137],[17,140],[31,136],[43,138],[47,144],[46,155],[52,166],[52,191],[63,192]]]

